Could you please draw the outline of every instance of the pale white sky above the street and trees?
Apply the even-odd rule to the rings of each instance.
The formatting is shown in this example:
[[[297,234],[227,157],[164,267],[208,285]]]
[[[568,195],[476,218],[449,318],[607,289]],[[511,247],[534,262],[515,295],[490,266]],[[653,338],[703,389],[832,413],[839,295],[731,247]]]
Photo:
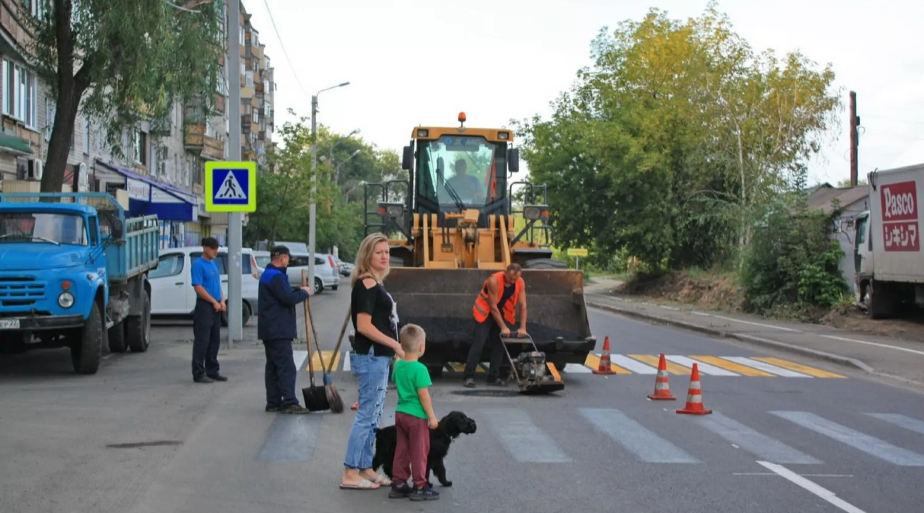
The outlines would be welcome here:
[[[276,124],[310,116],[382,149],[400,149],[416,125],[504,127],[540,114],[590,66],[590,42],[650,7],[697,17],[705,0],[244,0],[275,68]],[[849,178],[848,90],[857,92],[859,175],[924,163],[924,2],[724,0],[756,51],[799,50],[833,64],[841,129],[810,164],[812,184]],[[275,29],[274,29],[275,23]],[[278,34],[277,34],[278,32]],[[286,54],[288,59],[286,58]],[[278,128],[277,128],[278,129]],[[278,137],[276,137],[278,138]],[[516,143],[516,141],[515,141]],[[526,169],[521,163],[521,171]],[[521,174],[522,176],[522,174]]]

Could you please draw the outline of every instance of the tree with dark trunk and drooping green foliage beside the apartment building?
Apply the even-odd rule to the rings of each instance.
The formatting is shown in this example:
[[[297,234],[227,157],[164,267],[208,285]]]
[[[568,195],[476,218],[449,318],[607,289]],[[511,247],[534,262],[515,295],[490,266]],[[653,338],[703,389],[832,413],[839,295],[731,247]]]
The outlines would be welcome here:
[[[213,105],[226,47],[221,0],[39,1],[43,16],[24,21],[34,33],[25,51],[56,99],[44,192],[61,190],[81,108],[121,154],[123,129],[168,119],[176,101]]]

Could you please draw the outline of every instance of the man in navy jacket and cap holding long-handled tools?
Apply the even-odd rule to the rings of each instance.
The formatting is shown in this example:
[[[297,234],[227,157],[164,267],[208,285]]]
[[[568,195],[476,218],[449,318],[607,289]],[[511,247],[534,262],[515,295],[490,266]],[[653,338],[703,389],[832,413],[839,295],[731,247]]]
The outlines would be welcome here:
[[[266,350],[266,411],[308,413],[295,395],[298,370],[292,356],[292,340],[298,338],[295,305],[308,299],[310,289],[292,290],[286,275],[290,257],[284,245],[270,251],[270,263],[260,277],[257,338],[263,341]]]

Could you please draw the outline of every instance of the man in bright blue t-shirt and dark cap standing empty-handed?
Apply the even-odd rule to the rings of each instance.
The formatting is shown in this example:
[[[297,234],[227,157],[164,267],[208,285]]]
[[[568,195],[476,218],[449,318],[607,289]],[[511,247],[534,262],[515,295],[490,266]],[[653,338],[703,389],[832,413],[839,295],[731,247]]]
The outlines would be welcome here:
[[[192,312],[192,379],[196,383],[227,381],[218,374],[218,346],[221,344],[222,312],[227,311],[222,280],[215,258],[218,241],[202,239],[202,256],[192,263],[192,288],[196,307]]]

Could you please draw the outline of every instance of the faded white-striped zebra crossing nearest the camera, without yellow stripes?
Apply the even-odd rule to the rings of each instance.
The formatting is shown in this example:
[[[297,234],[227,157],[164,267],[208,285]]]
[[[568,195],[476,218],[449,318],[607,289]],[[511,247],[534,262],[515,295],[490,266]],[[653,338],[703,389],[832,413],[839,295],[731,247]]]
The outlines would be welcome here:
[[[594,464],[604,457],[629,458],[640,463],[710,465],[723,462],[723,451],[743,450],[754,459],[779,465],[821,465],[853,461],[853,455],[849,454],[853,451],[867,459],[897,467],[924,467],[924,454],[896,446],[848,425],[876,419],[881,422],[881,429],[871,428],[876,431],[890,432],[898,428],[924,435],[924,421],[900,413],[857,412],[846,420],[842,419],[845,424],[804,411],[760,412],[748,414],[747,420],[737,420],[723,412],[701,417],[672,415],[670,422],[689,423],[687,428],[675,430],[664,429],[664,418],[655,420],[648,414],[641,415],[642,419],[633,418],[630,413],[617,408],[573,407],[556,411],[556,417],[568,417],[567,429],[562,429],[560,421],[543,415],[543,412],[533,414],[524,408],[497,406],[463,410],[479,424],[478,433],[471,436],[492,438],[492,441],[467,444],[466,450],[479,453],[474,455],[479,459],[483,456],[484,459],[505,458],[518,463]],[[437,415],[444,413],[437,412]],[[322,428],[343,429],[338,418],[329,415],[280,416],[268,433],[260,458],[271,460],[274,453],[290,447],[286,449],[286,461],[312,459],[313,444]],[[779,438],[762,433],[761,426],[772,424],[769,421],[773,418],[786,421],[796,430],[781,430]],[[382,425],[393,424],[394,421],[394,407],[386,407]],[[291,434],[286,435],[289,431]],[[817,440],[808,440],[811,435],[833,441],[841,449],[832,450]],[[562,438],[556,439],[559,436]],[[292,452],[296,438],[299,448]],[[608,439],[612,443],[601,444],[600,439]],[[575,440],[585,442],[575,444]],[[724,444],[716,444],[717,441]],[[492,448],[496,447],[494,442],[503,447],[504,456]],[[273,448],[274,444],[280,447]],[[593,444],[591,451],[587,450],[589,444]],[[685,444],[689,447],[684,447]],[[920,451],[924,447],[924,439],[906,441],[905,445]],[[482,455],[482,451],[486,452]]]

